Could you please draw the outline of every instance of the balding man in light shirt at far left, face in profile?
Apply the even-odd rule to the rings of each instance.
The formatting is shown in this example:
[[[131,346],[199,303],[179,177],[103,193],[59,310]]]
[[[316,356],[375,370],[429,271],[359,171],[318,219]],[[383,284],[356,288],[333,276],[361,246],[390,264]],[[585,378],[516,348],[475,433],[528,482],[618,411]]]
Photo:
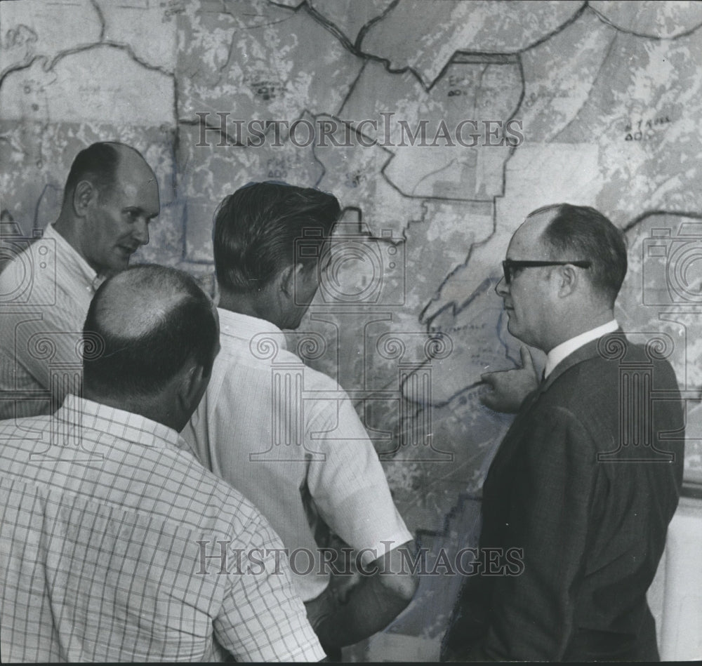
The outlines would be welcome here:
[[[51,413],[80,392],[76,350],[91,298],[149,242],[159,209],[137,150],[100,142],[79,152],[58,220],[0,274],[0,419]]]

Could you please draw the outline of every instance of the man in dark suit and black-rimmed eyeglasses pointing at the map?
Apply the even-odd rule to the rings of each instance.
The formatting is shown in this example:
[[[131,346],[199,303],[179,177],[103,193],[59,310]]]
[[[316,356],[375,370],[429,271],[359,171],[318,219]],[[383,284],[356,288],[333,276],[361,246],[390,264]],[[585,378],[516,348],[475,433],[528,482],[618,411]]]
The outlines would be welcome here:
[[[646,592],[682,486],[684,422],[673,368],[614,319],[622,234],[593,208],[539,208],[503,269],[508,329],[547,359],[486,477],[486,557],[466,578],[442,656],[658,660]],[[623,377],[650,380],[665,400],[637,411]]]

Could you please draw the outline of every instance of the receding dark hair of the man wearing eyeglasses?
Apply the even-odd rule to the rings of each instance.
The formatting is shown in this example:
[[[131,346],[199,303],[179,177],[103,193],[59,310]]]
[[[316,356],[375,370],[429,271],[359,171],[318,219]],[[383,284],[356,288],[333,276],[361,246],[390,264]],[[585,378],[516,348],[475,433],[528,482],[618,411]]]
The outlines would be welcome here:
[[[588,260],[590,282],[614,305],[627,269],[626,243],[620,229],[590,206],[557,204],[535,213],[553,210],[555,216],[542,234],[555,260]]]

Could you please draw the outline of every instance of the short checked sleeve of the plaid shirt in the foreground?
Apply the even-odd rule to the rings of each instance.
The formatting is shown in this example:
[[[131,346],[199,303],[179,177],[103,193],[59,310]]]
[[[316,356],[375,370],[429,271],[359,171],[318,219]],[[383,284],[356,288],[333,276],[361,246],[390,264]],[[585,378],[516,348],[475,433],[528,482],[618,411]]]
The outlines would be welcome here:
[[[313,662],[326,654],[293,590],[282,542],[265,519],[251,520],[248,534],[230,550],[226,590],[213,620],[218,643],[237,661]]]

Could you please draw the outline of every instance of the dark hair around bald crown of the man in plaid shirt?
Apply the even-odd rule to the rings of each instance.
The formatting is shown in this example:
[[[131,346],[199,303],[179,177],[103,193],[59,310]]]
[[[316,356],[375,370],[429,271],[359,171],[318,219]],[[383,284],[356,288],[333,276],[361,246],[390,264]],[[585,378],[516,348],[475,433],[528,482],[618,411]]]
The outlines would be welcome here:
[[[126,312],[114,312],[110,305],[114,300],[110,295],[112,279],[95,293],[84,325],[86,386],[106,396],[154,395],[190,358],[209,375],[218,327],[211,300],[197,282],[182,271],[156,265],[128,268],[113,279],[126,281],[139,296],[133,307],[127,305]],[[169,304],[166,309],[164,301]],[[159,314],[143,316],[145,305],[151,304],[151,312]],[[131,317],[152,321],[148,321],[146,331],[130,335]],[[121,322],[123,326],[119,326]]]

